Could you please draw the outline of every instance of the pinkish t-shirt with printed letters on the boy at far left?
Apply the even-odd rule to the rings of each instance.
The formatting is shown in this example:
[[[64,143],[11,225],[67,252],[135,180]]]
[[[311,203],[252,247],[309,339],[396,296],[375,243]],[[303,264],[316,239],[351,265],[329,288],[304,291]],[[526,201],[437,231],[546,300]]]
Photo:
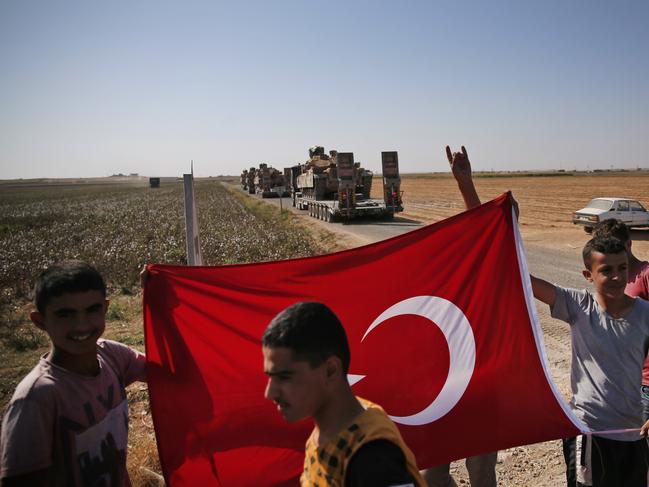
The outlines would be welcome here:
[[[0,437],[0,477],[50,468],[53,485],[130,485],[124,387],[145,380],[144,355],[97,342],[99,374],[88,377],[46,357],[18,384]]]

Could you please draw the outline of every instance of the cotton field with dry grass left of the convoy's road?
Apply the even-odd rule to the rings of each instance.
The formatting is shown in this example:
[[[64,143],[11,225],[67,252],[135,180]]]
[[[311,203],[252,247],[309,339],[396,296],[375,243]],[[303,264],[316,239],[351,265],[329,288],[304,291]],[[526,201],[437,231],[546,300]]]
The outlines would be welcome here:
[[[0,409],[48,349],[28,320],[34,277],[62,259],[94,263],[109,286],[105,336],[144,350],[139,269],[185,263],[182,183],[0,185]],[[229,189],[230,188],[230,189]],[[286,259],[322,253],[289,212],[279,213],[214,180],[198,181],[196,199],[206,264]],[[327,247],[324,247],[324,246]],[[134,485],[159,470],[145,385],[129,389],[129,470]],[[145,467],[146,470],[140,467]]]

